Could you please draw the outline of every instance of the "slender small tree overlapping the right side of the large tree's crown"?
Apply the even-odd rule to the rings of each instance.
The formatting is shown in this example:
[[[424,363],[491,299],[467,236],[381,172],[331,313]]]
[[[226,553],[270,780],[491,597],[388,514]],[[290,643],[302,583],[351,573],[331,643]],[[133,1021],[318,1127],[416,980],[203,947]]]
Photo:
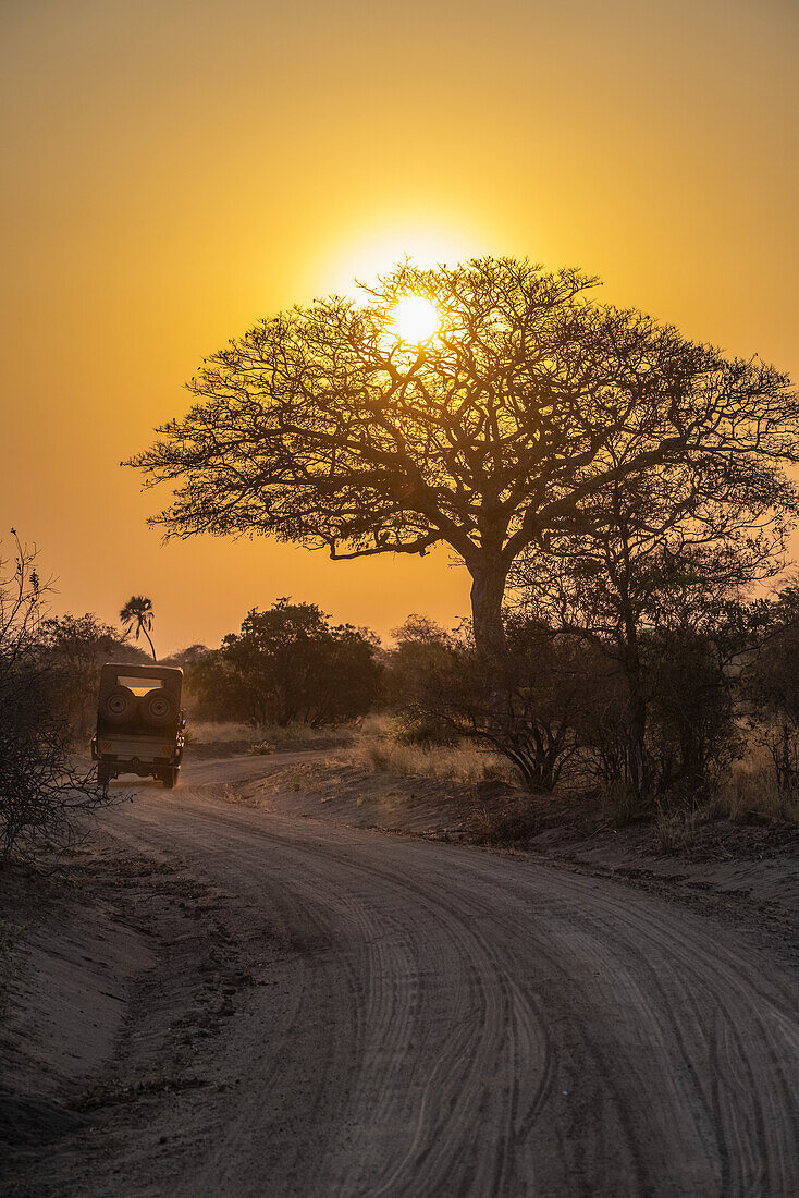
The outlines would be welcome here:
[[[677,781],[662,745],[660,776],[653,776],[654,707],[661,733],[671,727],[679,740],[680,779],[697,782],[700,761],[709,763],[710,745],[727,737],[732,707],[713,648],[726,635],[726,600],[781,568],[795,513],[793,488],[769,467],[732,470],[710,456],[612,483],[595,496],[589,522],[576,519],[545,552],[520,563],[515,582],[538,618],[618,664],[625,778],[638,800]],[[712,713],[720,721],[713,733]]]

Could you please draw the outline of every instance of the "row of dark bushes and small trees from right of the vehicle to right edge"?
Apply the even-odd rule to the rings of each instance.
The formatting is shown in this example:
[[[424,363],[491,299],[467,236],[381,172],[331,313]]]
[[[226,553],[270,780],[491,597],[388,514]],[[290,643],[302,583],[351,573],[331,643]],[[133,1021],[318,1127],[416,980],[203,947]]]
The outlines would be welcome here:
[[[701,563],[647,562],[631,580],[581,574],[569,594],[520,577],[506,613],[507,653],[476,648],[411,616],[382,648],[332,625],[314,604],[253,610],[219,649],[170,659],[186,671],[198,716],[254,727],[395,715],[394,736],[422,745],[470,739],[507,756],[534,791],[558,782],[627,792],[631,805],[707,797],[758,745],[776,785],[799,780],[799,587],[747,600],[710,586]],[[646,598],[644,598],[646,593]],[[567,601],[568,600],[568,601]]]

